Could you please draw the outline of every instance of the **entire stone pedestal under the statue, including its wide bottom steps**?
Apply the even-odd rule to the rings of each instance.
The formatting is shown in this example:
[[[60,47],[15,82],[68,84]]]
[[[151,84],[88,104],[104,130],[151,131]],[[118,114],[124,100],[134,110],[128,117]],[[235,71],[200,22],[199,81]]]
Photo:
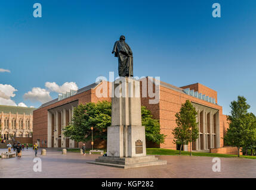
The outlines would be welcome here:
[[[131,168],[166,164],[146,156],[145,128],[141,126],[140,81],[121,77],[112,84],[112,121],[107,128],[107,156],[94,164]]]

